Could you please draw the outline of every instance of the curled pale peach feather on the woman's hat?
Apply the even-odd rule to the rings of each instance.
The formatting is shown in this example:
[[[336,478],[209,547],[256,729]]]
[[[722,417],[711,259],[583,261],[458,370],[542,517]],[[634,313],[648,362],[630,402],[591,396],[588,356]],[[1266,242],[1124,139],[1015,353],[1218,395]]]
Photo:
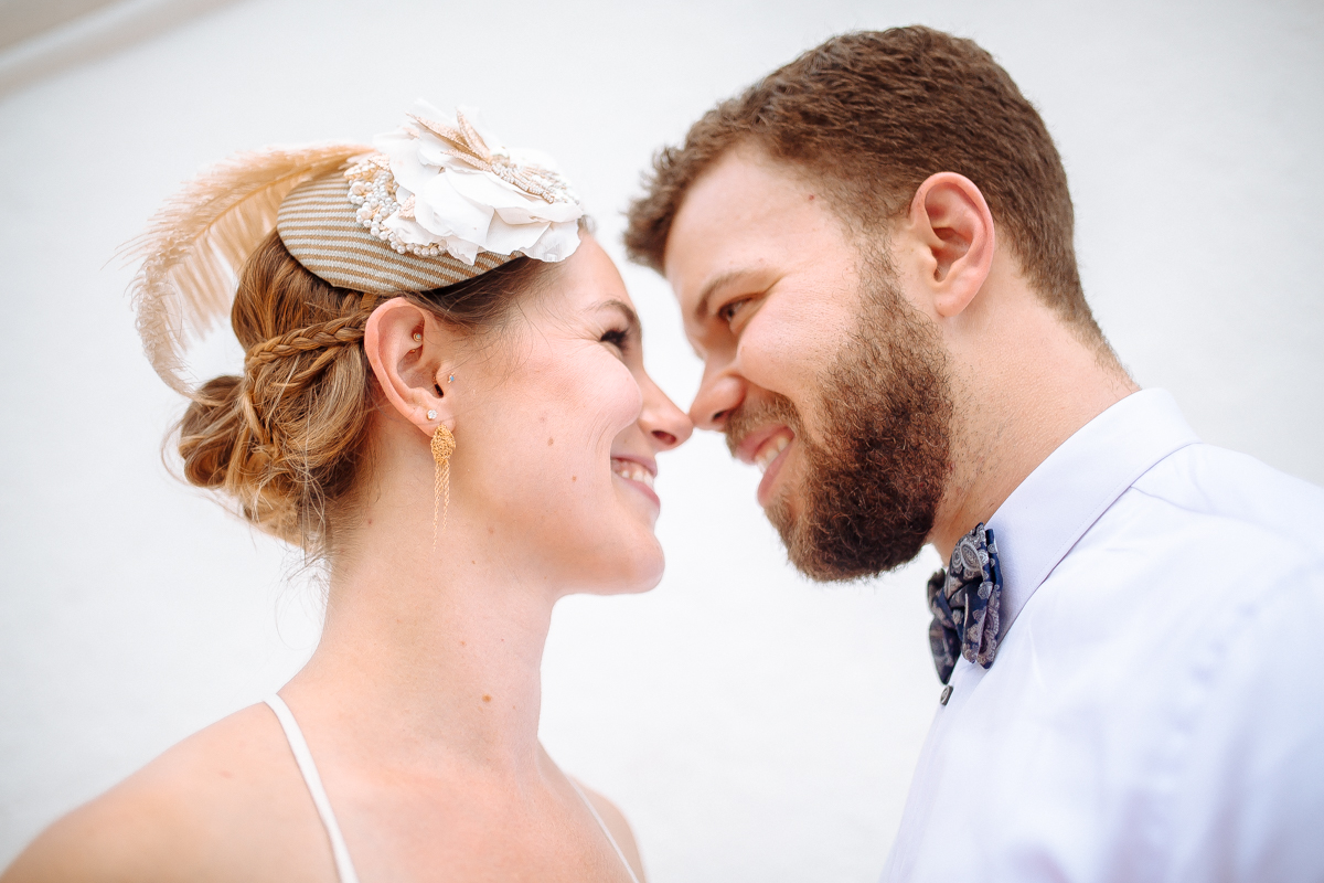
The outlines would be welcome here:
[[[237,154],[185,184],[120,246],[120,257],[142,261],[128,286],[138,334],[171,389],[192,395],[184,352],[229,312],[236,274],[275,226],[286,195],[368,152],[361,144],[324,143]]]

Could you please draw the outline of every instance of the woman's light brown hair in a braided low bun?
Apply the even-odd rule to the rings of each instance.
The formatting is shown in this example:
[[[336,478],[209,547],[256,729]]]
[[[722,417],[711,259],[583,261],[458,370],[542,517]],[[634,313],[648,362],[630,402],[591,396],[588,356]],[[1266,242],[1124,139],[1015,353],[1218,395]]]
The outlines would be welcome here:
[[[389,297],[490,332],[557,266],[516,258],[457,285]],[[245,262],[230,311],[244,373],[203,384],[177,426],[184,478],[228,495],[248,522],[310,559],[332,549],[332,528],[352,518],[369,471],[377,392],[361,340],[383,299],[318,278],[271,232]]]

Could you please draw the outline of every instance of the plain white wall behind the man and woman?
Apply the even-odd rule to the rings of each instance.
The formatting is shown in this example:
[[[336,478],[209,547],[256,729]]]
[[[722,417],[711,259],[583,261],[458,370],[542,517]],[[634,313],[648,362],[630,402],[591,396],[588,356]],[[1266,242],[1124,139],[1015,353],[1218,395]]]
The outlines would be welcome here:
[[[715,99],[911,23],[977,38],[1043,113],[1086,291],[1141,385],[1324,482],[1317,3],[238,3],[0,95],[0,864],[316,635],[299,559],[162,465],[181,402],[107,261],[164,196],[236,150],[368,139],[422,95],[559,158],[618,257],[639,171]],[[625,273],[687,405],[669,290]],[[221,338],[201,376],[240,364]],[[870,880],[937,699],[936,556],[806,584],[755,483],[714,436],[663,458],[666,580],[557,609],[544,740],[625,809],[657,882]]]

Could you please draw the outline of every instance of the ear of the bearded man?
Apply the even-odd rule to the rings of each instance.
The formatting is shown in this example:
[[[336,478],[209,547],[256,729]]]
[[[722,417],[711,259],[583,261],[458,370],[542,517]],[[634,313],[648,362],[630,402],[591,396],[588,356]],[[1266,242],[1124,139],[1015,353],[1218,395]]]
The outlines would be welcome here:
[[[964,175],[931,175],[915,191],[908,222],[933,308],[944,319],[960,314],[993,267],[997,240],[984,195]]]

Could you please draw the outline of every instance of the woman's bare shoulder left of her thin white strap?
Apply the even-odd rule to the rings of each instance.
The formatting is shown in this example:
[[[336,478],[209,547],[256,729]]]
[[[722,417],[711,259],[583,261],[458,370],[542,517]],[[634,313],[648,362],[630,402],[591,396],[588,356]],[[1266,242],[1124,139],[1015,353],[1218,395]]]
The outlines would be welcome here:
[[[281,725],[252,706],[46,829],[3,883],[335,880]]]

